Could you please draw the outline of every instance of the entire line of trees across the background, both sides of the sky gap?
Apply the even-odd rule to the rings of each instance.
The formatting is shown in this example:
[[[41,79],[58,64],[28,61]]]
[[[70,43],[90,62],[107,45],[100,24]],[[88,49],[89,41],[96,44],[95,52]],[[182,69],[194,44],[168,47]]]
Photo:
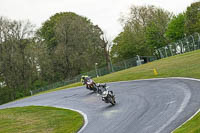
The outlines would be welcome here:
[[[132,6],[120,17],[123,31],[110,43],[98,25],[73,12],[56,13],[39,29],[0,17],[0,104],[30,90],[156,48],[200,30],[200,2],[178,15],[155,6]]]

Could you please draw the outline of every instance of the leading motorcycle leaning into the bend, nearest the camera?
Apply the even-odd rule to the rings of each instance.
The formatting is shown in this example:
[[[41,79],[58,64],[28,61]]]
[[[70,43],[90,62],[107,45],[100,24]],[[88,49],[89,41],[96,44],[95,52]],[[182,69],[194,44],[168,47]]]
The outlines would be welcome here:
[[[108,87],[106,87],[106,90],[102,93],[102,101],[104,101],[105,103],[111,103],[112,105],[115,105],[115,95],[113,94],[113,91],[109,91],[107,88]]]

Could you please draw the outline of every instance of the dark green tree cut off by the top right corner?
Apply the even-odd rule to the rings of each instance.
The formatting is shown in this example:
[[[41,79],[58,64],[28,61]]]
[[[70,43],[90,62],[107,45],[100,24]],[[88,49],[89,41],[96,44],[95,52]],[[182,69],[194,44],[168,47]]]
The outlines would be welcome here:
[[[186,10],[186,33],[200,32],[200,2],[194,2]]]

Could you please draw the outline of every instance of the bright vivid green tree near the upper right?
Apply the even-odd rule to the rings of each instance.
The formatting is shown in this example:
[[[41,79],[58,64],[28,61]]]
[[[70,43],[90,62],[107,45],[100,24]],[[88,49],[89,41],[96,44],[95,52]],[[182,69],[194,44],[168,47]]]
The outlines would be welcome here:
[[[185,21],[185,13],[180,13],[169,22],[165,35],[170,41],[177,41],[184,37]]]

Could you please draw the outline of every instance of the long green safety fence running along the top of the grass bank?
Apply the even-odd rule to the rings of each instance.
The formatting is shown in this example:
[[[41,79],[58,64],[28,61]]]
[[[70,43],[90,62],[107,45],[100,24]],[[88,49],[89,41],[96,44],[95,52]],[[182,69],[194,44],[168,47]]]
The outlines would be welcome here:
[[[200,49],[199,33],[195,33],[195,34],[185,37],[181,40],[178,40],[177,42],[170,43],[169,45],[167,45],[165,47],[155,50],[155,53],[154,53],[155,56],[137,56],[137,57],[134,57],[134,58],[131,58],[128,60],[124,60],[121,62],[117,62],[114,64],[110,63],[109,66],[105,66],[105,67],[101,67],[101,68],[97,68],[97,66],[96,66],[95,70],[77,75],[76,77],[74,77],[70,80],[56,82],[54,84],[50,84],[48,86],[44,86],[44,87],[41,87],[36,90],[32,90],[31,95],[39,93],[41,91],[46,91],[46,90],[58,88],[61,86],[69,85],[72,83],[80,82],[82,75],[89,75],[90,77],[103,76],[103,75],[106,75],[106,74],[109,74],[112,72],[117,72],[120,70],[128,69],[130,67],[134,67],[134,66],[137,66],[140,64],[151,62],[151,61],[154,61],[157,59],[174,56],[174,55],[182,54],[185,52],[194,51],[197,49]]]

